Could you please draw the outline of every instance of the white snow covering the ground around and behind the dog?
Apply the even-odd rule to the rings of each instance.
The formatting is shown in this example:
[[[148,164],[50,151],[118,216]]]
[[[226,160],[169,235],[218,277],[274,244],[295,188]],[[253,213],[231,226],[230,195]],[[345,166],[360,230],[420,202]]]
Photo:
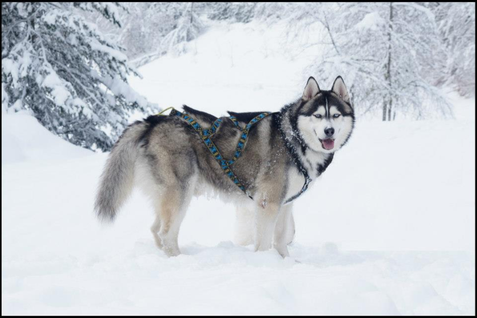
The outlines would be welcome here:
[[[162,107],[275,111],[313,75],[312,52],[286,37],[219,24],[132,81]],[[101,226],[92,202],[107,154],[2,114],[2,315],[474,315],[475,99],[449,96],[453,120],[358,121],[296,202],[286,259],[235,245],[234,207],[215,199],[193,200],[178,257],[156,248],[139,191]]]

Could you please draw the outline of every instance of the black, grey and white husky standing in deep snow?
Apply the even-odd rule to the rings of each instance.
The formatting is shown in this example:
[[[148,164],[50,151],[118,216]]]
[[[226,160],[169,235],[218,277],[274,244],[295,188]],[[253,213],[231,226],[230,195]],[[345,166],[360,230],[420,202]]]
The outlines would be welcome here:
[[[184,106],[202,127],[217,117]],[[234,113],[243,127],[261,114]],[[253,239],[255,250],[273,246],[283,257],[295,234],[291,201],[309,187],[351,136],[354,110],[346,86],[337,77],[331,90],[320,90],[311,77],[302,97],[255,123],[241,157],[231,165],[246,194],[224,173],[201,137],[177,116],[149,116],[130,125],[114,145],[96,196],[101,220],[113,221],[139,185],[152,199],[156,244],[168,256],[180,253],[180,224],[193,195],[209,189],[237,203],[239,218],[252,217],[253,231],[239,233],[242,244]],[[232,158],[241,131],[232,120],[211,137],[222,156]],[[252,198],[252,199],[251,199]]]

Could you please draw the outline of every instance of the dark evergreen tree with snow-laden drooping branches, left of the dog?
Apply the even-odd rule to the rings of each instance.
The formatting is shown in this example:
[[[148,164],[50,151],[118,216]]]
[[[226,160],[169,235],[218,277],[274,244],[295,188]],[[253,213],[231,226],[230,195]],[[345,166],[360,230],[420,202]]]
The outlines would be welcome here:
[[[75,10],[120,25],[117,2],[2,2],[2,109],[29,110],[73,144],[108,150],[147,100],[127,83],[136,74],[122,49]],[[3,110],[2,110],[3,111]]]

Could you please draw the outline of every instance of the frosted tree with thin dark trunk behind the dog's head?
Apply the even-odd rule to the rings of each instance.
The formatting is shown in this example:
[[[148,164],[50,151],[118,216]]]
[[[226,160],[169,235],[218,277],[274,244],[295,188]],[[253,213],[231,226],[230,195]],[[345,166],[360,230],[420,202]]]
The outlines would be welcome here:
[[[445,61],[434,15],[423,4],[322,3],[308,12],[304,21],[324,27],[317,41],[329,44],[313,74],[329,83],[343,75],[358,114],[381,111],[384,121],[452,114],[426,75],[429,68],[444,71]]]

